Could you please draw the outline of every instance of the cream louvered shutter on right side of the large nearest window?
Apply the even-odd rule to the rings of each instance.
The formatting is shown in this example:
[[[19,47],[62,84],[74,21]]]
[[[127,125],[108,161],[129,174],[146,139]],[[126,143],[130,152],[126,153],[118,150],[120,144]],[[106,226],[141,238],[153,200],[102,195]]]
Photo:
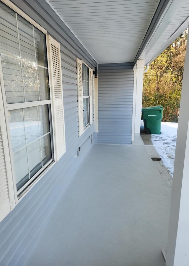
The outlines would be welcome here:
[[[48,35],[52,88],[55,159],[66,152],[60,44]]]

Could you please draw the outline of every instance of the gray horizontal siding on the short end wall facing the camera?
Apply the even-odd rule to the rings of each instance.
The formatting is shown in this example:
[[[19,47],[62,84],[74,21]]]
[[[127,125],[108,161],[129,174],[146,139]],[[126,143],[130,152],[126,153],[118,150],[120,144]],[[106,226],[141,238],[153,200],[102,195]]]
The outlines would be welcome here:
[[[100,66],[98,143],[131,144],[134,71]]]

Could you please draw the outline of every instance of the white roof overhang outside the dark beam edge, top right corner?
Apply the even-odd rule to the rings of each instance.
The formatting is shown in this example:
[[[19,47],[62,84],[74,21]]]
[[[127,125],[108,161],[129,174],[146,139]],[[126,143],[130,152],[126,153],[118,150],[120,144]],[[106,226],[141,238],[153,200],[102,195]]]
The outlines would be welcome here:
[[[162,51],[164,51],[187,27],[189,4],[187,0],[165,0],[159,4],[156,14],[151,22],[141,47],[133,61],[136,66],[137,59],[144,59],[150,64]]]

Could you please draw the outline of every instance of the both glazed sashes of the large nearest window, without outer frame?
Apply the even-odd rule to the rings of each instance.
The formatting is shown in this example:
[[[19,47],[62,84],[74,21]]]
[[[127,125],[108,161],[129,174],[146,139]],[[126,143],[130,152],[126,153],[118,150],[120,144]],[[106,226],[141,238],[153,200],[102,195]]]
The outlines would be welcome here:
[[[19,190],[53,159],[46,40],[44,33],[2,2],[0,13],[1,83]]]

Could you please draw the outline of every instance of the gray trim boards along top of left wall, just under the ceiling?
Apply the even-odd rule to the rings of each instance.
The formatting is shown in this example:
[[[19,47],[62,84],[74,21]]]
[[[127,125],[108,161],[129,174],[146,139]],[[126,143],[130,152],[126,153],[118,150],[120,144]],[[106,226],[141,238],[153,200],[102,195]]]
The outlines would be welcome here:
[[[26,14],[29,6],[30,9],[34,11],[32,14],[28,14],[33,20],[38,21],[35,18],[36,14],[38,14],[39,17],[41,17],[43,20],[46,20],[46,23],[50,27],[53,27],[59,35],[65,38],[74,49],[79,51],[79,53],[83,55],[83,58],[87,57],[89,62],[91,62],[91,66],[97,65],[97,62],[94,60],[94,58],[79,42],[79,40],[75,37],[71,30],[65,25],[63,20],[61,20],[61,18],[56,14],[56,12],[50,7],[47,1],[34,0],[31,3],[30,0],[25,0],[24,3],[22,3],[22,6],[20,5],[20,0],[14,0],[13,3],[17,5],[17,7],[22,9],[22,11]],[[44,27],[43,25],[41,26]]]

